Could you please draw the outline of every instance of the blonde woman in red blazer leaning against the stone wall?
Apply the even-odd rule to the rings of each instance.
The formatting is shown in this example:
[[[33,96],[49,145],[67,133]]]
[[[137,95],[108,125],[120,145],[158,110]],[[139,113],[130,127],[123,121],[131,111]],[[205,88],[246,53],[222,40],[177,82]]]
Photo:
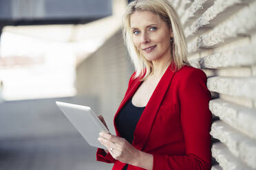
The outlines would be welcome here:
[[[211,94],[206,75],[189,66],[186,42],[167,0],[127,6],[123,33],[136,72],[114,126],[100,133],[97,160],[113,169],[211,169]]]

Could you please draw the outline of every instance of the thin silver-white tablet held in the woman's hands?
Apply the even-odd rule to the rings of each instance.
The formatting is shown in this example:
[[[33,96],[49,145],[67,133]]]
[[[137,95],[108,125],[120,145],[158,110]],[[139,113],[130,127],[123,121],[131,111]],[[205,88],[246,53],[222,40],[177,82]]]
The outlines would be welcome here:
[[[107,149],[98,141],[100,132],[109,132],[105,125],[89,106],[68,104],[56,101],[56,105],[65,114],[67,119],[76,127],[76,130],[85,138],[92,147]]]

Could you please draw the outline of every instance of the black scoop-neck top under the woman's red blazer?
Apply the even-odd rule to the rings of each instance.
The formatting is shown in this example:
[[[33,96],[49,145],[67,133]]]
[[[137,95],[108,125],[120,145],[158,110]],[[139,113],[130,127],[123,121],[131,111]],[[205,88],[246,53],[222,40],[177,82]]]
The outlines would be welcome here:
[[[131,103],[131,99],[129,99],[116,117],[118,132],[120,132],[121,137],[125,138],[129,143],[134,141],[134,131],[144,108],[145,107],[134,106]],[[128,165],[125,165],[122,170],[127,170],[127,166]]]

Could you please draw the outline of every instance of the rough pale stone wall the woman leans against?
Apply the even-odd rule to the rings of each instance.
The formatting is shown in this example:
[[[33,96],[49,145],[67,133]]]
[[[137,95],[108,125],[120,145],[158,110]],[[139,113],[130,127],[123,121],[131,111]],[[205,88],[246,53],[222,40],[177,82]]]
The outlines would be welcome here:
[[[212,169],[256,169],[256,1],[170,1],[213,95]]]

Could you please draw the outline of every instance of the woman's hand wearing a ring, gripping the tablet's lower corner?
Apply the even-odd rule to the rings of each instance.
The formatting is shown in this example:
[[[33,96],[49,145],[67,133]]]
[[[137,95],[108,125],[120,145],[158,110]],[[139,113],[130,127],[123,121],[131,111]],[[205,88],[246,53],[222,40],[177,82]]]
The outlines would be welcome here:
[[[129,165],[136,165],[140,151],[131,145],[125,138],[100,132],[98,141],[107,147],[109,154],[116,160],[120,160]]]

